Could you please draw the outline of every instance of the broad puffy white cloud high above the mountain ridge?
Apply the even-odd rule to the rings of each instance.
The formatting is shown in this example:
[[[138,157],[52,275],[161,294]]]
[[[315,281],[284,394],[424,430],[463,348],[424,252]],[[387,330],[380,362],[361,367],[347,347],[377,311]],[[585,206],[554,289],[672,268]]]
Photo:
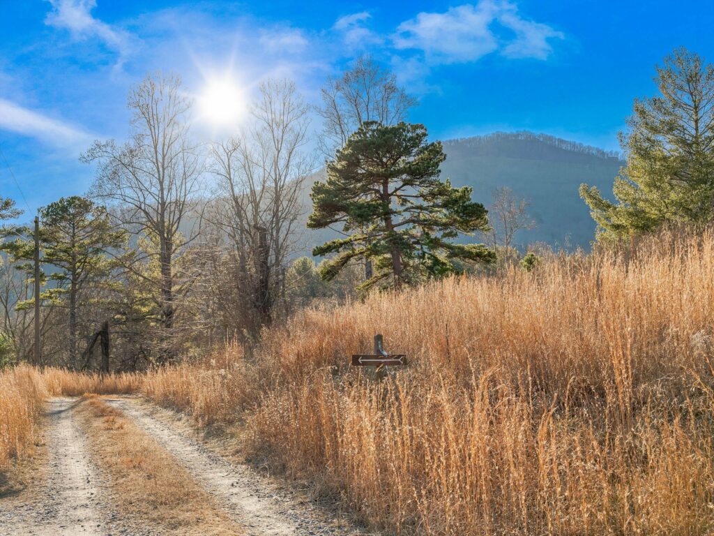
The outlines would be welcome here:
[[[453,64],[476,61],[499,50],[512,58],[545,59],[552,51],[550,38],[562,39],[563,34],[523,19],[515,4],[481,0],[444,13],[422,12],[398,26],[393,44],[397,49],[423,51],[430,64]]]

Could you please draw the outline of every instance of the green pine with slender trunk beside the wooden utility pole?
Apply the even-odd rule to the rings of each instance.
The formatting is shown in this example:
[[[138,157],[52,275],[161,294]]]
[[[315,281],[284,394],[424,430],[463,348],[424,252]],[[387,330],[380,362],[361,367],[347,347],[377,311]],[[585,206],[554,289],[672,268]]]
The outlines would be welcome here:
[[[63,197],[40,209],[40,222],[42,264],[54,267],[43,278],[55,283],[42,292],[41,299],[44,304],[67,309],[69,357],[76,365],[79,294],[116,267],[108,252],[124,246],[126,231],[114,228],[104,207],[79,196]],[[17,239],[4,244],[3,249],[16,260],[33,258],[32,240]],[[24,269],[31,272],[32,267],[28,264]]]

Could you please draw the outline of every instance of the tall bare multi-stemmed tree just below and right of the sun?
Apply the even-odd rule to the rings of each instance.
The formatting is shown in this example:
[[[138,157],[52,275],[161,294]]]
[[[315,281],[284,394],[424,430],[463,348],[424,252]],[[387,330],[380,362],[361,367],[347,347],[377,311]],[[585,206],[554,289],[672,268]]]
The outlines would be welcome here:
[[[313,170],[306,151],[308,106],[288,80],[260,86],[251,122],[236,137],[213,146],[221,199],[213,221],[228,237],[236,292],[270,324],[296,246],[300,193]]]

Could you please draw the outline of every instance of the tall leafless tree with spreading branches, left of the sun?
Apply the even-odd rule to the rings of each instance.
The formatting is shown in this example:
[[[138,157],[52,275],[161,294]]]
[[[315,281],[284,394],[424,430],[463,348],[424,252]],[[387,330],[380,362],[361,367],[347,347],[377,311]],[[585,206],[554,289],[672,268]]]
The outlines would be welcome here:
[[[131,137],[124,144],[95,142],[82,159],[99,162],[92,192],[109,204],[121,223],[156,243],[159,274],[154,284],[161,295],[161,326],[174,327],[176,281],[174,262],[196,238],[186,232],[188,217],[198,206],[201,156],[191,140],[191,102],[178,76],[147,76],[129,92]],[[152,272],[142,272],[151,277]]]

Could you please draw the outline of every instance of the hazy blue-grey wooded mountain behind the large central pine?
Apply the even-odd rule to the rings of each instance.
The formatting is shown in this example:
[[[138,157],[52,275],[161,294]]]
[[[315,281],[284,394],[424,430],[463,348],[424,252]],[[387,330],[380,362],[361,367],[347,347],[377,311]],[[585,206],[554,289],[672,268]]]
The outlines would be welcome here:
[[[578,195],[585,182],[601,192],[612,191],[613,179],[623,162],[617,154],[594,147],[530,132],[496,133],[443,142],[446,162],[441,177],[454,186],[473,187],[473,197],[486,206],[498,187],[509,187],[531,202],[529,214],[538,223],[518,234],[517,242],[547,242],[556,247],[590,247],[595,223]],[[306,184],[304,201],[319,172]],[[306,250],[337,235],[329,229],[306,232]],[[466,241],[476,238],[466,237]]]

